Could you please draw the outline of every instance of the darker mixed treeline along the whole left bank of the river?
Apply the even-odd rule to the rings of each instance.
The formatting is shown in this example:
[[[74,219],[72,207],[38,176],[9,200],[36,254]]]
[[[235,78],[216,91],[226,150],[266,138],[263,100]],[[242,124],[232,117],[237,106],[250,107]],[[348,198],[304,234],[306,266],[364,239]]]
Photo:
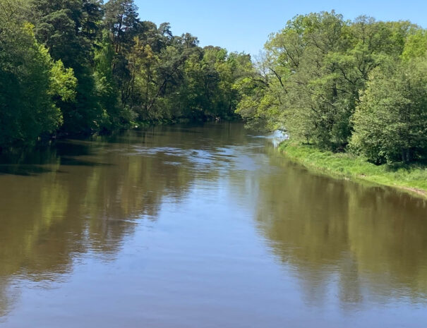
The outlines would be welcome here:
[[[246,71],[250,56],[143,21],[133,0],[0,0],[0,147],[231,118]]]

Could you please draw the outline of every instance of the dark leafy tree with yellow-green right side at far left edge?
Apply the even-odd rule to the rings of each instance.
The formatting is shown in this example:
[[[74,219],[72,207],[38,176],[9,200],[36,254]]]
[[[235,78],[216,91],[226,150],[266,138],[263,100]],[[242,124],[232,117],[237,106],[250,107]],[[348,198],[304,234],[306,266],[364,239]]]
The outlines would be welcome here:
[[[4,4],[4,3],[3,3]],[[23,23],[23,2],[0,6],[0,146],[34,143],[61,125],[59,102],[76,94],[73,70],[54,61]]]

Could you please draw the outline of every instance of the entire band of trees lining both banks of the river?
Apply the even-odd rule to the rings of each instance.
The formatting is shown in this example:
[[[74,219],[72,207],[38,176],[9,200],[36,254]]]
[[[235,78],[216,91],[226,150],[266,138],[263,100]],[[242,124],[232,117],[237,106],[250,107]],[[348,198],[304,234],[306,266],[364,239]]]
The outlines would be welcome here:
[[[0,146],[231,118],[375,164],[427,157],[427,32],[296,16],[258,61],[143,21],[133,0],[0,0]]]

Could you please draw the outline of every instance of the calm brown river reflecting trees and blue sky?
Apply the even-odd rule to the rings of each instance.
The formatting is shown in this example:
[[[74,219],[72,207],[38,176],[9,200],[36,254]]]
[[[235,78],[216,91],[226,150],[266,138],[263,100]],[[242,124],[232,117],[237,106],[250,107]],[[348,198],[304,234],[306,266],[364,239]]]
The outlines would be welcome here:
[[[427,204],[240,123],[0,158],[0,327],[427,327]]]

